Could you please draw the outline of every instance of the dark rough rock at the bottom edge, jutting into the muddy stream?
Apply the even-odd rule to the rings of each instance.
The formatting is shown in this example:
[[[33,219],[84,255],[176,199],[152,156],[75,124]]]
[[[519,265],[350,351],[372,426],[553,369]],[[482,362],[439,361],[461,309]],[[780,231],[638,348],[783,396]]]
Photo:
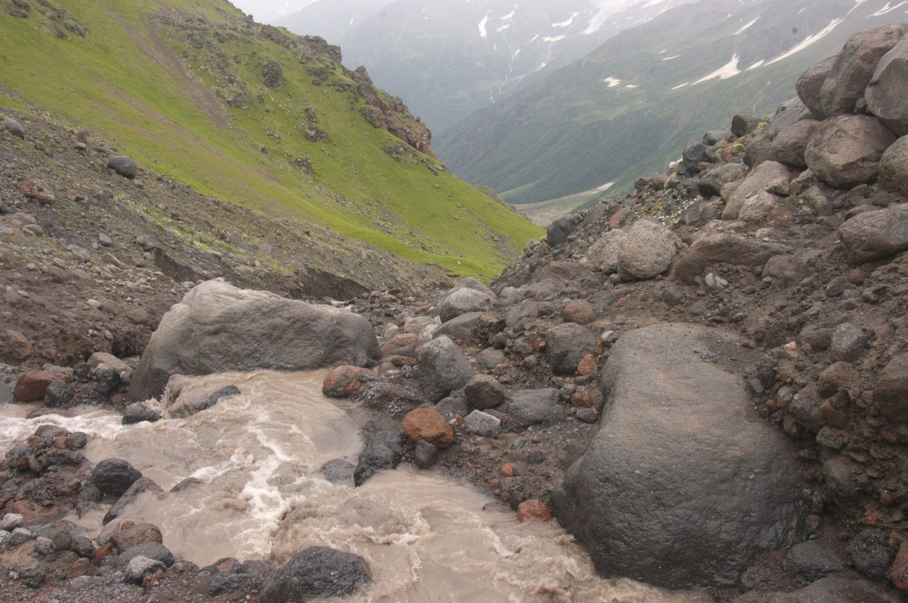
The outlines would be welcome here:
[[[371,580],[369,566],[359,555],[312,547],[295,555],[265,579],[258,600],[296,603],[310,598],[344,597]]]

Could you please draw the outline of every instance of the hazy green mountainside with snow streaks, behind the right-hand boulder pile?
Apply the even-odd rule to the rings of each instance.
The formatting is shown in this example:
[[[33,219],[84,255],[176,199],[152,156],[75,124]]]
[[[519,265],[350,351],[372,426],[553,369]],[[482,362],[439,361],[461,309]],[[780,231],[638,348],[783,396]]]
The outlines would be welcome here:
[[[609,194],[623,192],[687,141],[723,128],[730,112],[771,114],[850,34],[908,18],[908,7],[894,5],[704,0],[676,8],[474,114],[436,151],[462,178],[512,203],[610,181]]]

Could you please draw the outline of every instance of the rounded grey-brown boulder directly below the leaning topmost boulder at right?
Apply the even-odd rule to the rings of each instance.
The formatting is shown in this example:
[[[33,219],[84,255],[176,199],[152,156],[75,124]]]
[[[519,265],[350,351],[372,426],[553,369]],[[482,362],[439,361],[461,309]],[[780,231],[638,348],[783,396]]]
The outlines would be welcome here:
[[[851,189],[876,180],[883,151],[894,141],[893,133],[873,117],[840,115],[817,126],[804,158],[819,180]]]

